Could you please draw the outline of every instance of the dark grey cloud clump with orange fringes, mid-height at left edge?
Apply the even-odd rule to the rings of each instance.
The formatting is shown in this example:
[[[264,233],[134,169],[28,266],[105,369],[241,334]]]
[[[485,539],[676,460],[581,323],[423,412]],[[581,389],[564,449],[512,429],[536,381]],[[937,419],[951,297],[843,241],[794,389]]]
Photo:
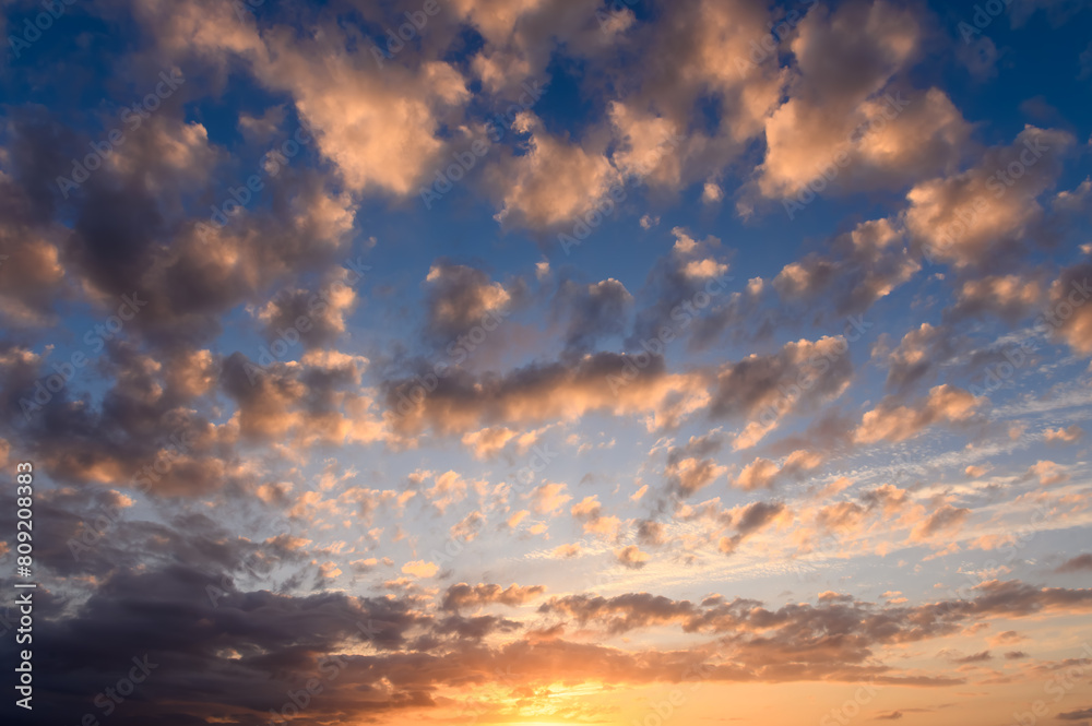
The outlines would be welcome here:
[[[238,422],[214,424],[194,408],[194,395],[209,390],[219,361],[207,353],[140,353],[112,342],[99,370],[108,383],[102,406],[86,405],[61,390],[32,414],[20,431],[24,451],[58,483],[111,483],[162,496],[206,496],[245,486],[251,473],[235,451]],[[17,410],[19,397],[33,394],[47,359],[13,348],[0,355],[5,392]],[[4,371],[4,369],[7,369]]]

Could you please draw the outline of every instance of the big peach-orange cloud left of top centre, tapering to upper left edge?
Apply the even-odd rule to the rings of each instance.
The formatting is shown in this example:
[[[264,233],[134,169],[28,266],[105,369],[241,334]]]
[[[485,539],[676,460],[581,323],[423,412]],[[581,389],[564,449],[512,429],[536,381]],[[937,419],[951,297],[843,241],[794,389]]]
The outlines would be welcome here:
[[[443,163],[449,146],[441,127],[460,120],[467,79],[429,57],[439,51],[427,47],[423,56],[407,51],[380,68],[354,33],[317,14],[307,13],[307,21],[269,15],[270,25],[259,31],[230,7],[154,0],[141,4],[138,17],[158,38],[159,53],[187,66],[241,61],[266,88],[287,94],[351,189],[416,194]],[[317,33],[295,34],[299,22]]]

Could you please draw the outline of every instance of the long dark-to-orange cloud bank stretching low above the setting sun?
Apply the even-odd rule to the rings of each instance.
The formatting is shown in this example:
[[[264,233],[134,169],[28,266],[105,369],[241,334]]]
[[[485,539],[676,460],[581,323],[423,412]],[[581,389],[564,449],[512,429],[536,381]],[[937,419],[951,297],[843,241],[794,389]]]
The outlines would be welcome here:
[[[417,561],[405,567],[435,574],[436,564]],[[207,595],[210,586],[215,587],[215,600]],[[970,599],[912,607],[877,606],[834,593],[821,595],[816,604],[776,609],[720,595],[695,603],[649,593],[609,598],[567,595],[550,597],[537,607],[539,615],[613,634],[674,627],[691,636],[719,636],[723,652],[716,657],[701,645],[622,651],[569,642],[560,638],[563,622],[553,636],[527,633],[524,639],[514,620],[458,612],[494,605],[517,608],[543,594],[541,586],[460,583],[438,595],[449,614],[438,617],[408,597],[242,592],[229,580],[178,566],[140,574],[119,572],[105,580],[79,611],[63,612],[61,604],[44,593],[38,606],[52,617],[54,624],[44,634],[46,660],[39,687],[50,695],[44,701],[47,716],[61,722],[78,718],[86,710],[87,699],[102,689],[102,671],[109,664],[124,664],[132,653],[145,652],[162,670],[142,687],[147,689],[146,699],[127,703],[131,709],[127,718],[162,721],[168,701],[170,713],[194,715],[209,703],[225,703],[225,698],[240,709],[277,703],[299,678],[325,673],[319,670],[320,665],[331,662],[340,665],[340,675],[324,681],[324,698],[312,704],[316,716],[434,710],[436,702],[424,697],[434,688],[455,687],[467,677],[477,682],[510,666],[519,674],[518,683],[527,687],[551,682],[558,664],[573,678],[596,675],[603,682],[636,685],[662,681],[664,674],[678,679],[702,663],[708,664],[707,679],[713,682],[819,677],[858,682],[868,676],[877,683],[939,687],[963,681],[903,673],[877,662],[875,653],[886,645],[954,634],[964,622],[982,618],[1092,608],[1088,591],[996,581],[977,586]],[[121,612],[128,617],[121,618]],[[78,640],[85,653],[71,651],[74,633],[83,633],[83,640]],[[57,647],[60,643],[67,650]],[[79,656],[73,663],[80,668],[49,655],[61,652]],[[86,663],[102,664],[99,675],[85,674]],[[522,666],[518,670],[517,664]],[[217,688],[194,678],[197,673],[216,676]],[[376,689],[383,679],[393,688],[380,694]],[[224,683],[233,686],[226,697]],[[360,695],[361,689],[369,691],[367,699]]]

